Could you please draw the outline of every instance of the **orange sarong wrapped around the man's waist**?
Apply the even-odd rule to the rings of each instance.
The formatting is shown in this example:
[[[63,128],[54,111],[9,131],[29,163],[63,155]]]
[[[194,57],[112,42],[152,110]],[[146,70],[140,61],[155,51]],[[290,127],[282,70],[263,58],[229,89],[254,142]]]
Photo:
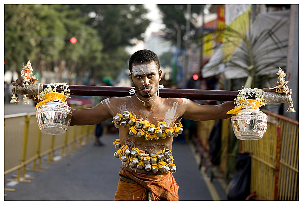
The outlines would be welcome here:
[[[179,186],[171,172],[147,175],[121,168],[119,175],[129,182],[119,180],[115,201],[148,200],[148,198],[153,201],[179,199]]]

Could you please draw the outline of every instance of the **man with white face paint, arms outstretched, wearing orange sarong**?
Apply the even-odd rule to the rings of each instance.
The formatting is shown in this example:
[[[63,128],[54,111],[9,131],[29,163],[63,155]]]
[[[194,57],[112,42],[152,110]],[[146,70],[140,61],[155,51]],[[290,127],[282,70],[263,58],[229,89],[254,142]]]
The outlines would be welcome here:
[[[185,98],[159,97],[162,76],[159,68],[154,52],[137,51],[129,59],[129,77],[135,95],[110,97],[93,108],[73,110],[71,126],[98,124],[113,118],[119,128],[119,139],[113,144],[118,148],[114,155],[122,160],[122,168],[115,200],[178,200],[178,185],[172,174],[178,159],[174,161],[172,157],[172,142],[173,136],[180,133],[180,119],[231,117],[226,113],[234,108],[233,102],[199,105]],[[17,82],[22,85],[20,80]]]

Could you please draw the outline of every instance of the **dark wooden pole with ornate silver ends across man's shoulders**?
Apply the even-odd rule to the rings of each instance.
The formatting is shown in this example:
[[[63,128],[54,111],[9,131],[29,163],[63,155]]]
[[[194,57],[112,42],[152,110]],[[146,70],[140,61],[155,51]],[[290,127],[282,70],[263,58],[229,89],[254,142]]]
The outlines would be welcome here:
[[[37,95],[46,88],[47,85],[29,84],[21,87],[15,86],[15,93],[19,95]],[[132,96],[129,91],[132,87],[111,87],[111,86],[78,86],[69,85],[71,96],[104,96],[104,97],[125,97]],[[57,87],[57,92],[63,89]],[[198,89],[169,89],[162,88],[159,90],[159,96],[163,98],[187,98],[190,100],[216,100],[216,101],[234,101],[238,91],[226,90],[198,90]],[[282,95],[277,92],[264,92],[265,102],[290,103],[291,95]],[[251,97],[250,97],[251,98]],[[253,98],[253,96],[252,96]]]

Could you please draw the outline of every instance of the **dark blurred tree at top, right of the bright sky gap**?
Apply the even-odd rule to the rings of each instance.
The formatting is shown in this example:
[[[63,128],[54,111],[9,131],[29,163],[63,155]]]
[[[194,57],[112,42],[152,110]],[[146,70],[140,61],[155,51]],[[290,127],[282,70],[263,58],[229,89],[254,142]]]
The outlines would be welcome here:
[[[158,4],[158,8],[162,14],[163,23],[166,25],[164,32],[167,33],[166,38],[172,40],[175,44],[177,42],[176,28],[178,25],[181,29],[181,37],[185,35],[186,32],[186,17],[187,17],[187,5],[186,4]],[[196,18],[201,13],[201,5],[193,4],[191,5],[191,23],[190,30],[195,28],[192,22],[197,21]],[[174,25],[175,24],[175,25]],[[192,36],[193,32],[191,33]],[[184,39],[181,38],[181,48],[184,48]]]

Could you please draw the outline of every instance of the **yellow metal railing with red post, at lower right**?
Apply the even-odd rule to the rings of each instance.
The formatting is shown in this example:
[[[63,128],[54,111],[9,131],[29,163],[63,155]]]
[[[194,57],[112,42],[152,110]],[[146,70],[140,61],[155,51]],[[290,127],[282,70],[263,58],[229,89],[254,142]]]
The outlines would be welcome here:
[[[241,141],[240,151],[251,153],[251,192],[260,200],[298,200],[299,123],[268,115],[265,136]]]

